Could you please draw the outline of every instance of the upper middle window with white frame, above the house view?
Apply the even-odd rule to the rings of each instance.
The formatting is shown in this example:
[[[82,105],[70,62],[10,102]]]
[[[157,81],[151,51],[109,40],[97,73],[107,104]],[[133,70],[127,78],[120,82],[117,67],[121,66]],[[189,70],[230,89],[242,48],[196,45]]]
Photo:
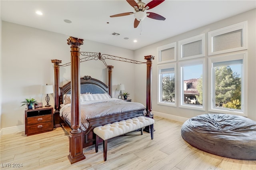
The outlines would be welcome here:
[[[205,56],[205,35],[194,36],[181,40],[179,45],[179,60]]]

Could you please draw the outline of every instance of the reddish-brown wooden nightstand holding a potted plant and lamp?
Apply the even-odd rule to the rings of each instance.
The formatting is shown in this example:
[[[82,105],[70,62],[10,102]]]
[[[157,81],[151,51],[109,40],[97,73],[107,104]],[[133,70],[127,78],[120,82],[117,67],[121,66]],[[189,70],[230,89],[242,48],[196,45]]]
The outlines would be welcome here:
[[[27,136],[53,129],[53,107],[25,109],[25,134]]]

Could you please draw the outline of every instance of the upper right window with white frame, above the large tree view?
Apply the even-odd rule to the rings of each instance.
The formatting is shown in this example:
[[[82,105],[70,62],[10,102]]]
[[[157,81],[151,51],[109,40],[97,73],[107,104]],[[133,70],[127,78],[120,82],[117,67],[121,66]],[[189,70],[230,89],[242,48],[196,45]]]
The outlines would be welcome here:
[[[247,21],[208,32],[208,54],[246,49]]]

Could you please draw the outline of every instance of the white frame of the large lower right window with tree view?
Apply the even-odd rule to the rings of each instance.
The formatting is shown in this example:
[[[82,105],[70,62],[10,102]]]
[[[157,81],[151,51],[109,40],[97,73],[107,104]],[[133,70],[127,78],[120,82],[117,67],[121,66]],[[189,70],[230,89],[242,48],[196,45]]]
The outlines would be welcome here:
[[[208,67],[209,67],[209,72],[208,72],[208,77],[209,77],[209,103],[208,103],[208,111],[211,112],[217,112],[217,113],[224,113],[224,114],[233,114],[233,115],[241,115],[241,116],[247,116],[247,88],[246,87],[246,82],[247,82],[247,69],[246,69],[246,57],[247,52],[242,52],[242,53],[234,53],[234,54],[228,54],[228,55],[221,55],[218,57],[209,57],[208,59]],[[242,59],[243,60],[243,67],[242,67],[242,75],[241,75],[241,111],[237,111],[234,109],[228,109],[228,108],[218,108],[214,107],[215,104],[215,83],[214,83],[214,67],[213,63],[217,62],[223,62],[223,61],[234,61]]]

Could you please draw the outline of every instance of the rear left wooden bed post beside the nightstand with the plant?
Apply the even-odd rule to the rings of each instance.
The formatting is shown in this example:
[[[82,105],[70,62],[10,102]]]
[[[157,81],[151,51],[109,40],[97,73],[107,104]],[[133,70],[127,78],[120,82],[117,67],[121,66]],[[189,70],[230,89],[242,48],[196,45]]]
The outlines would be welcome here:
[[[60,127],[60,63],[61,60],[52,59],[54,63],[54,128]]]

